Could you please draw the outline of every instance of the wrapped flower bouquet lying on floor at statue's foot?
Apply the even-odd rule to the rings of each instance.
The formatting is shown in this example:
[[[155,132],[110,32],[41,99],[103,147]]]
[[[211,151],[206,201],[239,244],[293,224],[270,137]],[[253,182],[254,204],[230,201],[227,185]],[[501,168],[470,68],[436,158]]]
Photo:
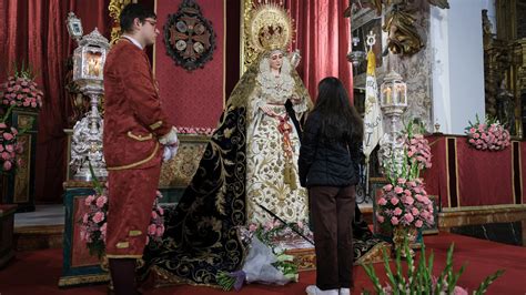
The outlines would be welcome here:
[[[302,222],[283,224],[280,221],[269,221],[264,225],[250,224],[247,227],[240,228],[243,242],[249,245],[249,254],[242,269],[218,273],[219,285],[224,291],[232,288],[239,291],[245,282],[275,285],[297,282],[297,265],[294,263],[294,256],[285,254],[282,246],[275,242],[275,237],[285,235],[291,226],[305,236],[310,233],[308,227]]]

